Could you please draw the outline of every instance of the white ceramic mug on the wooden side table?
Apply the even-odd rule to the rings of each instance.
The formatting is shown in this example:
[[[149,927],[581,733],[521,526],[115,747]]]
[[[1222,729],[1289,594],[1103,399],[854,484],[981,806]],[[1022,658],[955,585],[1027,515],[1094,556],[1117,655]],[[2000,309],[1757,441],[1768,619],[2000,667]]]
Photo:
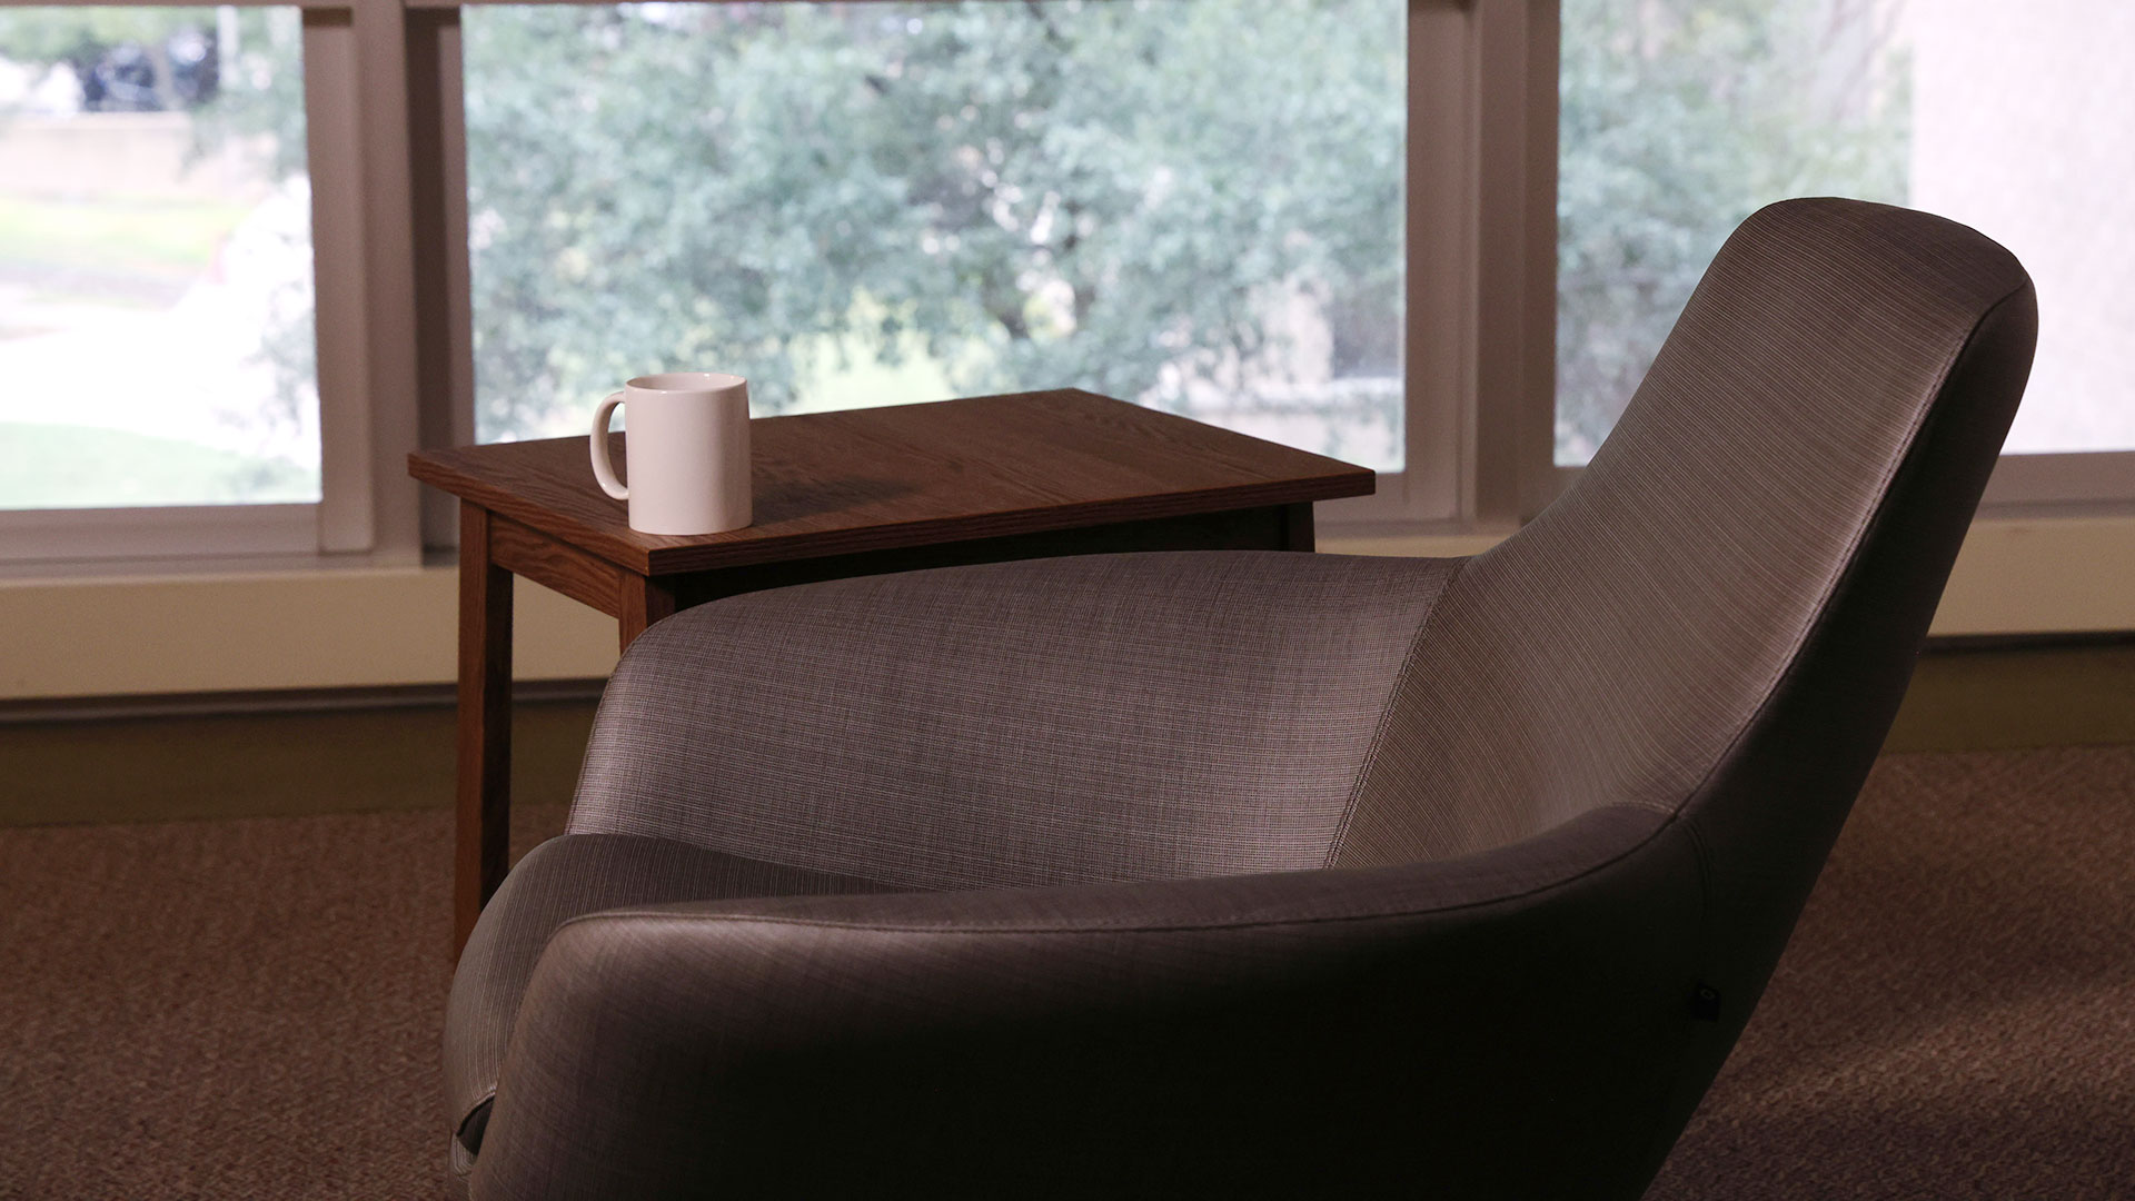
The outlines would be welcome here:
[[[630,483],[608,462],[608,415],[630,406]],[[630,502],[640,534],[719,534],[749,524],[749,380],[717,372],[638,376],[594,410],[594,479]]]

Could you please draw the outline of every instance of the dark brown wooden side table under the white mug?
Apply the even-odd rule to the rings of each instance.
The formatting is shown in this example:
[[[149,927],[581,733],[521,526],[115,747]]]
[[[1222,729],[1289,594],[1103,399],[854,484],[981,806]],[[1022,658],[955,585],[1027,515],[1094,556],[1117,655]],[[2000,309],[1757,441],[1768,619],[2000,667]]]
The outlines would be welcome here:
[[[628,477],[623,434],[611,436]],[[628,648],[685,609],[786,583],[1153,549],[1313,549],[1313,502],[1364,468],[1087,391],[752,423],[756,524],[638,534],[585,438],[408,455],[459,498],[455,949],[510,848],[512,590],[523,575],[617,618]]]

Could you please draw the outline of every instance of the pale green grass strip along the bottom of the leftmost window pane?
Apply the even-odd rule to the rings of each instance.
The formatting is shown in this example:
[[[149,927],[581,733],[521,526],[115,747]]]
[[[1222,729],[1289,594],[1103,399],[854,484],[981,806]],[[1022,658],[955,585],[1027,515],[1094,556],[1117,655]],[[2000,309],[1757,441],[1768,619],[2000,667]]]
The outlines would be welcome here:
[[[284,504],[318,500],[318,470],[88,425],[0,423],[0,509]]]

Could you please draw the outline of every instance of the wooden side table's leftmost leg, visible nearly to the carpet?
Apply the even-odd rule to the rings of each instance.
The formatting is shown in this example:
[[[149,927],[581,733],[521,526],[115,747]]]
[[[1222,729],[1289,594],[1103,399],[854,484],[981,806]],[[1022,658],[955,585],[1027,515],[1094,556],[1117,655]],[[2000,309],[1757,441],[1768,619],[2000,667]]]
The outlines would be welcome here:
[[[455,957],[504,883],[512,838],[512,573],[491,562],[489,530],[489,511],[461,500]]]

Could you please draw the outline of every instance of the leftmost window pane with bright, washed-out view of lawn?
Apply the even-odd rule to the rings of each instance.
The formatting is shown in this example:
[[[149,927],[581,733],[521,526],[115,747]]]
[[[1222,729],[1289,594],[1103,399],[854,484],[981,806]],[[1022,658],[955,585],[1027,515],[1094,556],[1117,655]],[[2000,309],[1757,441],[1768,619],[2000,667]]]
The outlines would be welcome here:
[[[0,509],[318,500],[297,9],[0,9]]]

